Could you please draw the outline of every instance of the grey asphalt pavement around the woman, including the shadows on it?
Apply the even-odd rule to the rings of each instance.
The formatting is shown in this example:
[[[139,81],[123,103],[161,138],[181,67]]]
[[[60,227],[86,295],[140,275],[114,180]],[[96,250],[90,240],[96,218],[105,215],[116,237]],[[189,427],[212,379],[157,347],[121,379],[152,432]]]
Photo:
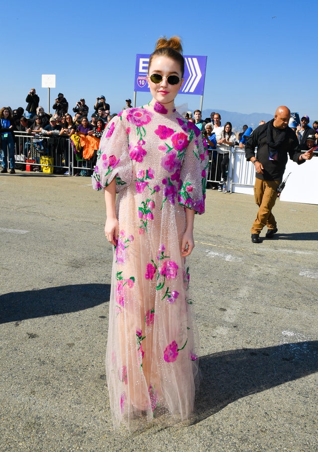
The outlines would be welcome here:
[[[114,432],[112,250],[88,177],[0,175],[0,451],[318,451],[318,206],[208,190],[188,260],[202,383],[191,422]]]

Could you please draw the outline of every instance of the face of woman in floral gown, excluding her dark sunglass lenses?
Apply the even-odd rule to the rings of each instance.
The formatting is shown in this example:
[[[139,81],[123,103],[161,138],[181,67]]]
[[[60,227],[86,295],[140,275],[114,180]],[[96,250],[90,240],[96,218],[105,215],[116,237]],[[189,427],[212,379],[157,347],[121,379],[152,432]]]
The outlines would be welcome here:
[[[153,74],[160,74],[163,79],[160,83],[151,81],[150,76]],[[176,85],[170,85],[167,81],[169,75],[178,76],[180,81]],[[168,57],[155,57],[149,67],[149,75],[147,76],[150,92],[155,100],[168,105],[173,103],[175,96],[182,87],[183,79],[181,79],[180,65]]]

